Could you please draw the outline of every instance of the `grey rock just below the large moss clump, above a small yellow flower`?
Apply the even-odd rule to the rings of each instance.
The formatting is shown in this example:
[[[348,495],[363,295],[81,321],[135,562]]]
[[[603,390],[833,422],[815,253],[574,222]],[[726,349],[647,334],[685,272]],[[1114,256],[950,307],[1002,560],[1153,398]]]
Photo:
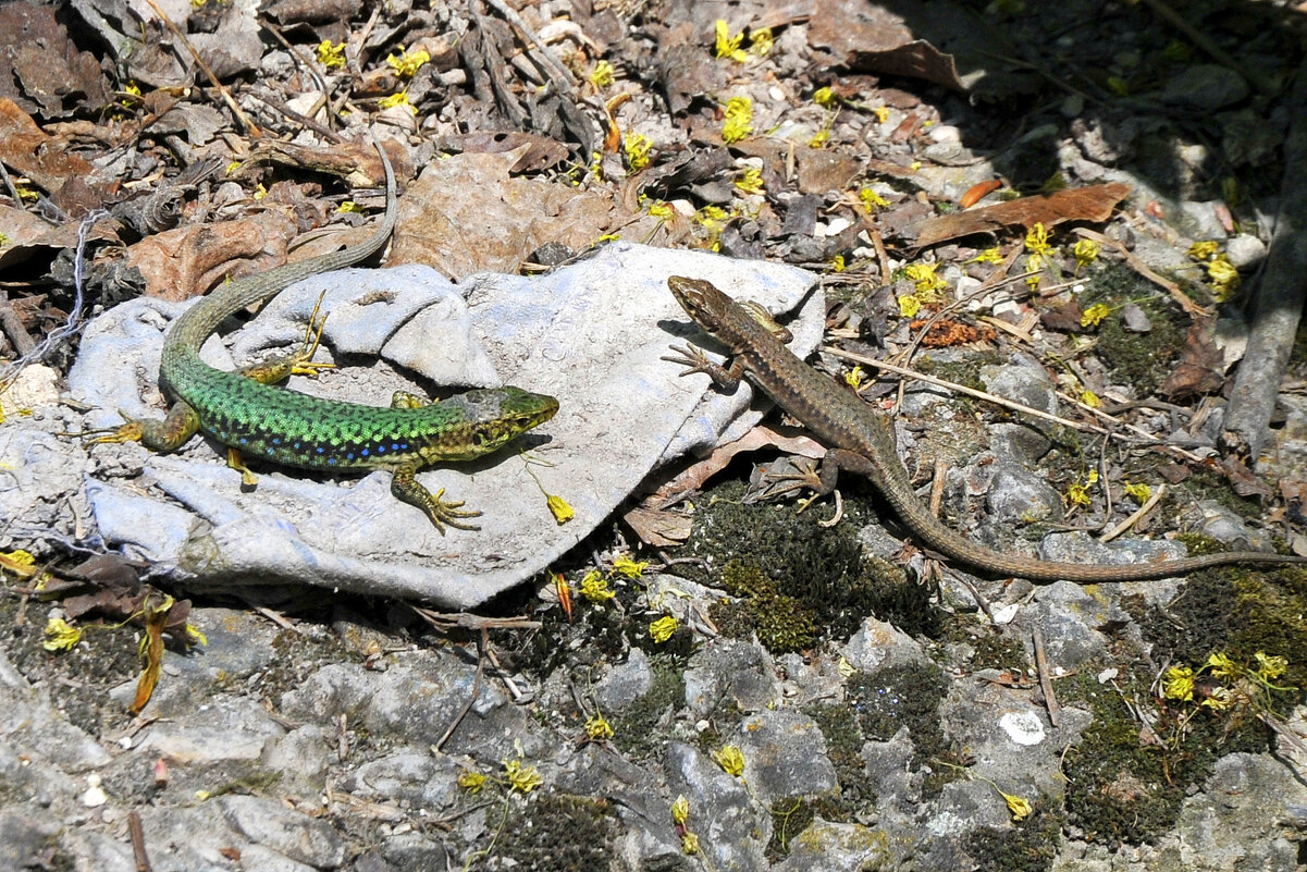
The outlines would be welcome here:
[[[758,711],[780,696],[771,655],[757,642],[718,637],[694,652],[685,669],[685,705],[695,718],[714,711]]]

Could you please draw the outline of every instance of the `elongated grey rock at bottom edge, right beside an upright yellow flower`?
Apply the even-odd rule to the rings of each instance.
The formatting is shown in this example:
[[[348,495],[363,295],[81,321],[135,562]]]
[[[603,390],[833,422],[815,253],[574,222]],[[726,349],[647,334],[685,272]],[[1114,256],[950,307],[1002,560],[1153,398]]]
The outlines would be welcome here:
[[[771,814],[755,803],[738,778],[725,774],[698,748],[669,743],[663,763],[668,792],[690,803],[686,828],[715,869],[766,869]]]

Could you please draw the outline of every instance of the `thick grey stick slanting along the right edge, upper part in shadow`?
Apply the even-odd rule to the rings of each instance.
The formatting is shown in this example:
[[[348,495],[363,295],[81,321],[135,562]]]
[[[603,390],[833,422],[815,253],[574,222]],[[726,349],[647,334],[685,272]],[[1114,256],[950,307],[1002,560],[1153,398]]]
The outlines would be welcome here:
[[[1293,120],[1285,140],[1280,214],[1257,290],[1248,350],[1239,363],[1221,434],[1226,446],[1251,459],[1265,444],[1307,290],[1307,63],[1298,68],[1287,110]]]

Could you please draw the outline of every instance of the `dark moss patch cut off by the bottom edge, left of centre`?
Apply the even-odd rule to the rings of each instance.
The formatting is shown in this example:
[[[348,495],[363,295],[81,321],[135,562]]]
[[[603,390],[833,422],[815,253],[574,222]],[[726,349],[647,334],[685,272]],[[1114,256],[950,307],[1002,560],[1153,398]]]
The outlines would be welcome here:
[[[495,843],[494,868],[592,872],[612,865],[621,828],[613,807],[567,794],[537,794],[515,807]]]

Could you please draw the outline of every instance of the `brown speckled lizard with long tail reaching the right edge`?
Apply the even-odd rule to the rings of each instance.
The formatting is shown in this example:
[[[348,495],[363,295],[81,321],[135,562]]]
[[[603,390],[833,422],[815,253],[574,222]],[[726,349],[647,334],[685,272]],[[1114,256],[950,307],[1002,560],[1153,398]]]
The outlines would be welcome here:
[[[1161,563],[1057,563],[978,545],[945,527],[918,499],[907,469],[899,461],[889,422],[874,408],[799,360],[765,324],[712,284],[681,276],[668,278],[667,284],[690,318],[727,345],[735,360],[731,367],[721,367],[690,348],[677,348],[677,357],[664,360],[689,366],[682,375],[706,373],[725,390],[735,390],[740,377],[748,374],[780,408],[827,444],[818,493],[834,490],[840,469],[859,472],[885,494],[923,544],[958,562],[993,575],[1017,575],[1036,582],[1065,579],[1081,584],[1170,578],[1227,563],[1307,562],[1286,554],[1226,552]]]

